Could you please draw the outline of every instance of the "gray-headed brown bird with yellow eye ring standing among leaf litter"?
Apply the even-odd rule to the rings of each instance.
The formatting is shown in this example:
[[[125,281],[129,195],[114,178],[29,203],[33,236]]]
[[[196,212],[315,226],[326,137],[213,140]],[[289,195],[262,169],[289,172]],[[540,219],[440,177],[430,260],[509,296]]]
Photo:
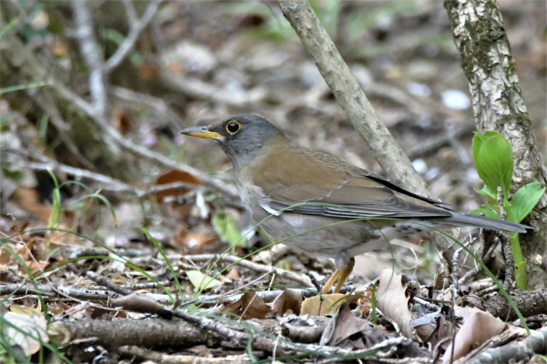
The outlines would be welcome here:
[[[431,228],[475,226],[526,233],[529,226],[454,210],[330,154],[296,145],[265,118],[237,114],[180,134],[215,140],[235,170],[244,208],[274,241],[332,258],[321,293],[340,291],[355,256]]]

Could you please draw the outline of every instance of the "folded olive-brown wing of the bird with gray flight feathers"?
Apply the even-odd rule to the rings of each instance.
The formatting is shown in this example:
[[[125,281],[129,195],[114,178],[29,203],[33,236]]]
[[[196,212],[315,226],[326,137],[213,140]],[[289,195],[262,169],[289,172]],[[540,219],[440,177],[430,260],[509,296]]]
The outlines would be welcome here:
[[[346,219],[449,217],[442,203],[420,197],[328,154],[295,147],[256,168],[253,183],[267,208]],[[265,167],[267,166],[267,167]],[[269,212],[271,212],[271,210]]]

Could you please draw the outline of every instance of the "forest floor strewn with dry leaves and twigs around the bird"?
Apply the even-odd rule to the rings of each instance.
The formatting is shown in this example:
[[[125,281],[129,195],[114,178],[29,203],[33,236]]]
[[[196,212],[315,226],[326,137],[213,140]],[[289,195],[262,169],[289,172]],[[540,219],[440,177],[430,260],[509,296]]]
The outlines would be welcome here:
[[[20,11],[30,14],[33,4],[21,3]],[[120,21],[127,7],[87,4],[109,54],[129,28]],[[481,206],[472,105],[442,2],[315,4],[433,193],[460,211]],[[545,153],[547,3],[499,6]],[[36,13],[10,31],[26,35],[26,48],[44,68],[66,69],[66,87],[90,100],[89,70],[70,33],[81,25],[71,6],[51,2]],[[61,30],[54,33],[53,25]],[[428,235],[357,257],[343,294],[319,296],[334,264],[270,242],[233,193],[222,150],[178,134],[256,113],[299,145],[382,174],[276,3],[165,2],[105,82],[105,129],[114,134],[99,138],[114,145],[116,158],[104,169],[82,162],[100,160],[103,151],[64,140],[51,108],[35,112],[43,105],[39,94],[26,90],[35,102],[22,106],[0,99],[4,361],[434,363],[452,356],[463,363],[487,350],[496,358],[508,358],[502,349],[517,355],[510,345],[519,340],[546,354],[547,311],[524,315],[543,333],[541,349],[523,339],[526,325],[499,302],[499,282],[471,256],[449,272]],[[73,131],[87,130],[65,121]],[[183,172],[188,167],[197,172]],[[179,187],[162,190],[168,183]],[[480,251],[478,235],[462,229],[458,239]],[[499,256],[493,250],[486,266],[503,281]],[[546,356],[530,362],[540,358]]]

